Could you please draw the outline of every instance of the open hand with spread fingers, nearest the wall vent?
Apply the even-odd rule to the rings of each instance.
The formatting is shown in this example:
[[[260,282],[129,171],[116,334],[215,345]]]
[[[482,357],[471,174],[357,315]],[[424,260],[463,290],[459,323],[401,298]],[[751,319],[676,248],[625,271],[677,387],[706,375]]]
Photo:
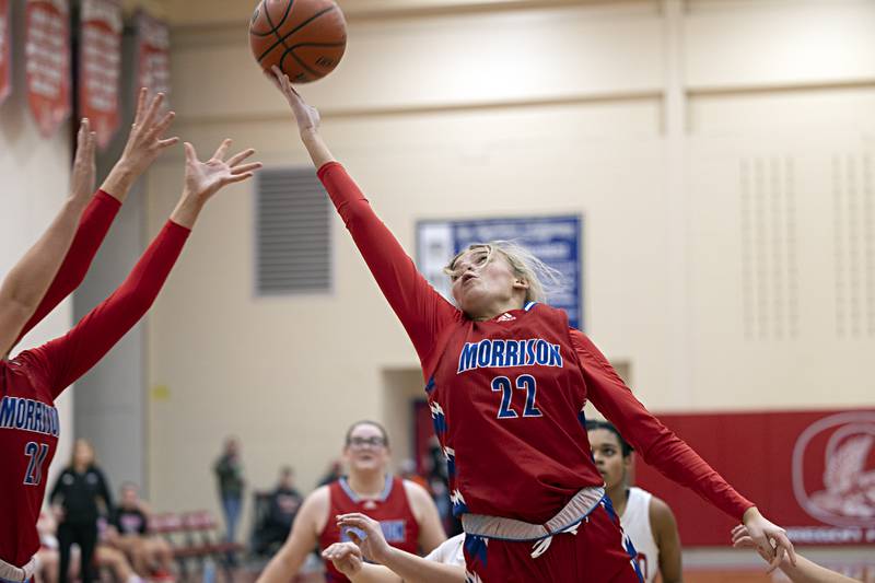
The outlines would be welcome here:
[[[258,162],[243,164],[243,161],[255,153],[249,148],[234,154],[228,161],[228,149],[231,140],[224,140],[215,153],[206,162],[198,160],[195,147],[185,144],[185,187],[186,190],[201,201],[206,201],[229,184],[240,183],[253,176],[253,172],[261,167]]]

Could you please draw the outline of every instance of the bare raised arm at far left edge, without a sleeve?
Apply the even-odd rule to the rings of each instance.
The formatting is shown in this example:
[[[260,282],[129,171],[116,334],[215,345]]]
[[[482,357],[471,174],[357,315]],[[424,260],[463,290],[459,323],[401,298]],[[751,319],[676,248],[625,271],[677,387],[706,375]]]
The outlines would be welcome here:
[[[88,119],[77,137],[70,194],[60,212],[0,284],[0,357],[5,355],[39,306],[73,241],[79,219],[94,191],[96,136]]]

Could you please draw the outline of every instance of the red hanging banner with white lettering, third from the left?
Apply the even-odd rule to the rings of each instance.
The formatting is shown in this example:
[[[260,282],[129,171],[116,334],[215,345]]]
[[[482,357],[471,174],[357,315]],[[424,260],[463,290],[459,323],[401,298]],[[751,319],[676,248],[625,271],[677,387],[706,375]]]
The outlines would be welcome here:
[[[91,120],[102,149],[118,129],[121,30],[118,0],[82,1],[79,103],[82,117]]]

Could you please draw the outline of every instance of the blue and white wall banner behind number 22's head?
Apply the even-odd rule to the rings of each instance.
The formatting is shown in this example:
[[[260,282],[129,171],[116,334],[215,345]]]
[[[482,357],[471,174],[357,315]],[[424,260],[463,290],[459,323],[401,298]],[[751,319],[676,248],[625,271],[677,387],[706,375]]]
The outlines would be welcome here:
[[[417,265],[429,282],[452,302],[450,280],[443,272],[450,259],[471,243],[512,241],[562,273],[564,285],[550,294],[548,303],[564,310],[571,326],[583,329],[582,230],[583,220],[579,215],[419,221]]]

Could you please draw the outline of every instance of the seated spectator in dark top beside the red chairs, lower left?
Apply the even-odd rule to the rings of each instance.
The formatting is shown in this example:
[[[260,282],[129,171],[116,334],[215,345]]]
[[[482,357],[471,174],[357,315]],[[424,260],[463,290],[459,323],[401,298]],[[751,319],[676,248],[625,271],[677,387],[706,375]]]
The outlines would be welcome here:
[[[150,535],[149,515],[149,508],[140,500],[137,486],[124,483],[107,543],[130,558],[140,576],[172,580],[173,549],[163,538]]]

